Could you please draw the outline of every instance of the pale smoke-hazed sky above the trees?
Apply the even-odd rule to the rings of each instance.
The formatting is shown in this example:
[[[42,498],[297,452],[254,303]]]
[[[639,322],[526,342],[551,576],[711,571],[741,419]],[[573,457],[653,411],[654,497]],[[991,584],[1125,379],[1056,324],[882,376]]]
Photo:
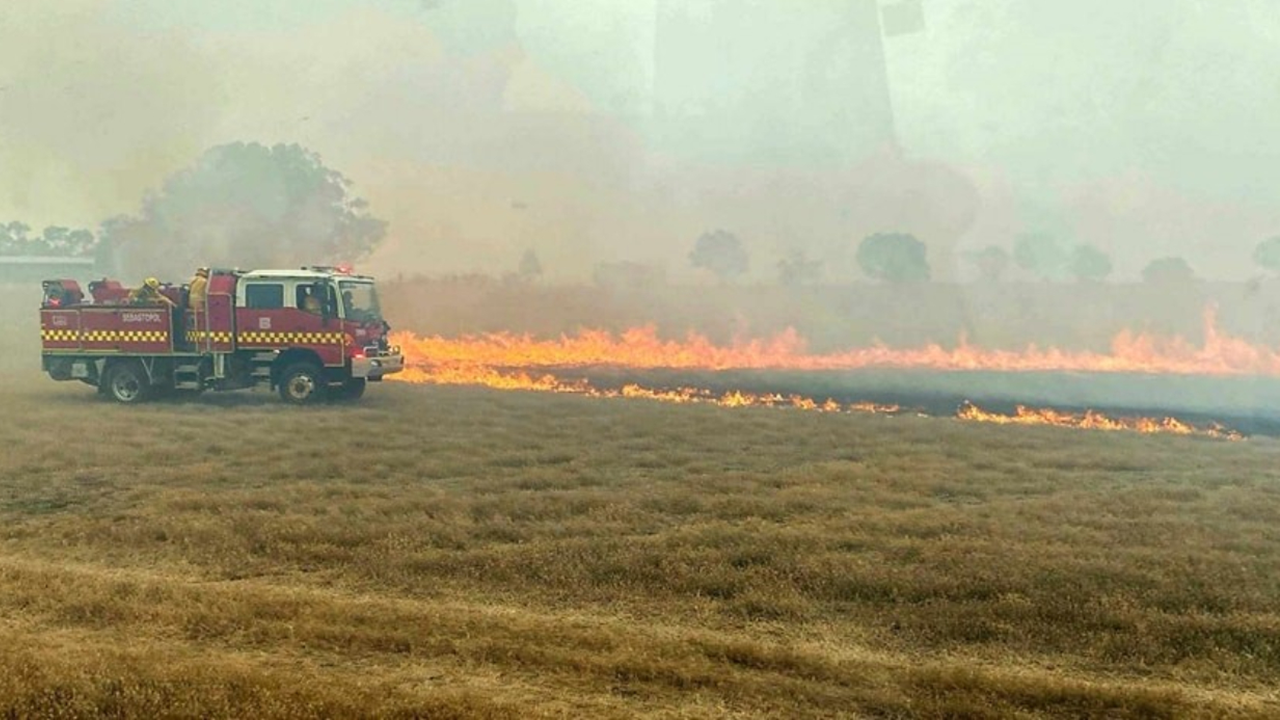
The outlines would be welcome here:
[[[357,183],[392,220],[387,269],[508,269],[531,246],[552,273],[682,270],[709,227],[767,269],[896,224],[940,258],[1032,229],[1120,275],[1185,255],[1243,277],[1280,233],[1274,1],[924,0],[927,28],[883,41],[901,158],[877,141],[855,6],[12,0],[0,219],[96,225],[205,147],[259,140]],[[687,40],[655,20],[672,8]]]

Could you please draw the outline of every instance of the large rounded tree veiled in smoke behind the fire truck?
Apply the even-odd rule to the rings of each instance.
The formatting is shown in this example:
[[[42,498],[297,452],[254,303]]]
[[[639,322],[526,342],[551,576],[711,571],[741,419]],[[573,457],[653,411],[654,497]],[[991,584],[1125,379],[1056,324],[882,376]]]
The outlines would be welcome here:
[[[105,254],[118,265],[170,275],[206,264],[358,260],[385,234],[387,223],[319,155],[256,142],[207,150],[170,176],[138,217],[102,223]]]

